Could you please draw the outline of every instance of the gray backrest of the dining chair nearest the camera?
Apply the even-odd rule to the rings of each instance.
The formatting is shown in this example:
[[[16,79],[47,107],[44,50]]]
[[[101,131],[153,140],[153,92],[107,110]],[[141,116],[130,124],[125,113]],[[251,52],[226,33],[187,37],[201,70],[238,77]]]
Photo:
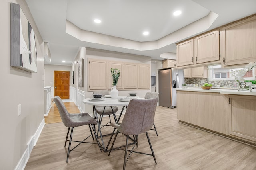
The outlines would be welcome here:
[[[132,99],[120,125],[120,132],[138,135],[149,131],[154,123],[157,98]]]

